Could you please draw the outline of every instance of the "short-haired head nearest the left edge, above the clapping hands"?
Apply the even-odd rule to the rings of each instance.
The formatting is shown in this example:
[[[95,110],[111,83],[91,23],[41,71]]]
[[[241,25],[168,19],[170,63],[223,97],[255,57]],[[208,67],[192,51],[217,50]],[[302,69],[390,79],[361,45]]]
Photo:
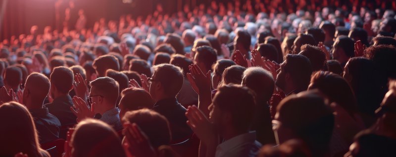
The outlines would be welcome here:
[[[16,66],[8,66],[4,71],[4,84],[15,89],[22,83],[22,70]],[[16,92],[16,91],[15,91]]]

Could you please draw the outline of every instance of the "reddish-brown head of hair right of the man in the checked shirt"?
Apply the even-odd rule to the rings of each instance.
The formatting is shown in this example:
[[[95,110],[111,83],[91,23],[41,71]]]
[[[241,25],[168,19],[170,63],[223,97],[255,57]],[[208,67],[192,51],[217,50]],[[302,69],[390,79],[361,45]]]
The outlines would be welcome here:
[[[121,92],[121,100],[118,104],[120,108],[120,120],[128,111],[135,111],[143,108],[152,108],[154,100],[151,95],[141,88],[127,88]]]

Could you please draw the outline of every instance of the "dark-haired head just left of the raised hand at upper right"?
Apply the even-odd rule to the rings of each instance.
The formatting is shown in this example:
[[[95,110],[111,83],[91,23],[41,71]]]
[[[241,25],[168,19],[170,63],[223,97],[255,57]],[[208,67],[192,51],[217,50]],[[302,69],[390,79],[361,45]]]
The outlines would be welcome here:
[[[354,54],[354,42],[351,38],[341,35],[336,38],[333,44],[333,59],[341,63],[342,67],[348,60],[355,56]]]

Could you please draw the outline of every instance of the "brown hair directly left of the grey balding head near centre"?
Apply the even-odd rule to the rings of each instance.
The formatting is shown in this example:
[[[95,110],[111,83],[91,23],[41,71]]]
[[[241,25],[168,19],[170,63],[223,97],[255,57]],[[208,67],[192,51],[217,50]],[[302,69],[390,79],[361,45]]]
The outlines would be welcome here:
[[[226,69],[224,69],[223,75],[221,77],[222,84],[241,84],[242,76],[245,70],[246,68],[240,65],[232,65],[230,67],[227,67]]]

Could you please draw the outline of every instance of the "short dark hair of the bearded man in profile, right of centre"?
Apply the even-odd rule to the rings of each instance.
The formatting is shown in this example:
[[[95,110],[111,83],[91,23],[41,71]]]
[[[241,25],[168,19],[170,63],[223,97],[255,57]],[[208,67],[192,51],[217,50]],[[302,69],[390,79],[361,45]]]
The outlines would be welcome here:
[[[303,55],[286,55],[285,72],[290,73],[295,85],[300,85],[305,89],[309,85],[312,74],[312,67],[309,59]]]

